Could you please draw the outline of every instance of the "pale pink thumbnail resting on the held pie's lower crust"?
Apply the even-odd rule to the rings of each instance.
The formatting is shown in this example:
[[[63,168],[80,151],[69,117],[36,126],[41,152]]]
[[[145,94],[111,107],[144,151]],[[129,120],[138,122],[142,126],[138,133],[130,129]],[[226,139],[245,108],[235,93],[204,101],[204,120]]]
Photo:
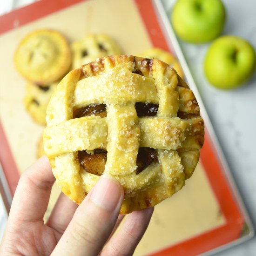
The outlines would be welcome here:
[[[94,186],[90,200],[108,211],[114,211],[117,207],[120,209],[123,200],[122,187],[111,176],[102,175]]]

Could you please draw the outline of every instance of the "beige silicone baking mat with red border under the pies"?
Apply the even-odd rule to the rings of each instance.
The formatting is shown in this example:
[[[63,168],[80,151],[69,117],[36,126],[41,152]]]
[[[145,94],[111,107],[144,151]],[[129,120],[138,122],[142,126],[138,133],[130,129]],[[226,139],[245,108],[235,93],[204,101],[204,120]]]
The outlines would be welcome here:
[[[166,33],[155,1],[150,0],[40,0],[1,16],[0,25],[0,161],[12,195],[20,173],[35,160],[31,155],[42,130],[22,105],[26,82],[13,67],[13,53],[22,37],[40,27],[58,29],[71,41],[86,33],[104,32],[127,54],[150,47],[175,54],[174,38]],[[203,114],[205,143],[195,173],[179,193],[155,207],[135,255],[198,255],[252,236],[207,114]]]

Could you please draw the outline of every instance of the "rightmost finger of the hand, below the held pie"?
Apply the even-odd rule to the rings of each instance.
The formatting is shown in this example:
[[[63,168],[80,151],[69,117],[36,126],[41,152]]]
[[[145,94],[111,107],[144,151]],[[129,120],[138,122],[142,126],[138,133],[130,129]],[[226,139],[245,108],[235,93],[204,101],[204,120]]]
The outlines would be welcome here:
[[[101,252],[101,256],[129,256],[144,235],[154,208],[130,213],[120,230],[110,238]]]

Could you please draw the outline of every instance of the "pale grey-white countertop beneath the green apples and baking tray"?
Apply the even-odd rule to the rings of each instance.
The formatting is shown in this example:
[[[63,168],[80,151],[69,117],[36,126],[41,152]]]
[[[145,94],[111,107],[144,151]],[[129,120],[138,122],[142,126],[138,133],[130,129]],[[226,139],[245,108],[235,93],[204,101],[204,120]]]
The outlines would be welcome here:
[[[33,0],[1,1],[0,14],[30,2]],[[168,12],[172,1],[162,2]],[[223,3],[227,10],[223,34],[241,36],[256,49],[256,1],[223,0]],[[182,41],[180,44],[236,185],[256,226],[256,72],[242,88],[218,90],[208,83],[203,73],[203,60],[209,44],[193,45]],[[6,220],[1,210],[0,220]],[[256,237],[217,255],[255,256]]]

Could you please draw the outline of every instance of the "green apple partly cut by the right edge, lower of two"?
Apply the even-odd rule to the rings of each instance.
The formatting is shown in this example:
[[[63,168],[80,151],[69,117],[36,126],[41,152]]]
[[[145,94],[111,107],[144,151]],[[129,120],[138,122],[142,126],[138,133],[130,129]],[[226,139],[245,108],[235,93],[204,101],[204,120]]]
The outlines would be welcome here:
[[[243,38],[226,35],[216,39],[206,54],[204,71],[209,82],[221,89],[233,89],[255,71],[256,55]]]

